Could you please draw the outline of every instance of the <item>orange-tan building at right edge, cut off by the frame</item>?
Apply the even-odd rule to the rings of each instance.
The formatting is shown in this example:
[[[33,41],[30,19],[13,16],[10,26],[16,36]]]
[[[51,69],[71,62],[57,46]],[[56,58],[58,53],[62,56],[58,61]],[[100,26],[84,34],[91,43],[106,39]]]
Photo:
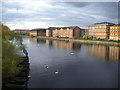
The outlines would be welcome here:
[[[120,40],[120,24],[110,27],[110,40]]]

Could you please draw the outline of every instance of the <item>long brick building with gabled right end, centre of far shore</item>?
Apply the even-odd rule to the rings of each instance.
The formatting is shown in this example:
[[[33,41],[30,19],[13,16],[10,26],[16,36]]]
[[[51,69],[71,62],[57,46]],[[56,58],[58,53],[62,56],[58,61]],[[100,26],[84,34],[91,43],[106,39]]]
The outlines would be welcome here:
[[[78,26],[71,27],[50,27],[46,31],[46,36],[74,38],[81,36]]]

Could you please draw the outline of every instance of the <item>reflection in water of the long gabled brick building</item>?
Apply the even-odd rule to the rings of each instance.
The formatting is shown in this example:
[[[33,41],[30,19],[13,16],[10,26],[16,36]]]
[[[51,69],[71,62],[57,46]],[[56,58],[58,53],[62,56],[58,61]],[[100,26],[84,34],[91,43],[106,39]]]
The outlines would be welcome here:
[[[61,48],[63,50],[79,50],[81,47],[81,44],[79,43],[73,43],[69,41],[58,41],[58,40],[46,40],[47,46],[54,46],[57,48]]]

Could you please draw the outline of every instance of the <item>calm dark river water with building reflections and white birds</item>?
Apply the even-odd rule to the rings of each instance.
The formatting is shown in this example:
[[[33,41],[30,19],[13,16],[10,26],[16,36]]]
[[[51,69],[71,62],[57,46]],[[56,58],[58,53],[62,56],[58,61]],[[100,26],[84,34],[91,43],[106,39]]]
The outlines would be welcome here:
[[[120,47],[24,38],[28,88],[117,88]]]

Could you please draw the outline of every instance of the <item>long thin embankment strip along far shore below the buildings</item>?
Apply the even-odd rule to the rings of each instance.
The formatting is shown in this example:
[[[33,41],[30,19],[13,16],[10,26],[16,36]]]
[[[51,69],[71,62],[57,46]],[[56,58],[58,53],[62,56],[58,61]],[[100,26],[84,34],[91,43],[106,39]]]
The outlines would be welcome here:
[[[87,44],[100,44],[100,45],[120,46],[120,42],[114,42],[114,41],[79,40],[79,39],[65,39],[65,38],[54,38],[54,37],[40,37],[40,36],[37,36],[36,38],[53,39],[53,40],[64,40],[64,41],[80,42],[80,43],[87,43]]]

